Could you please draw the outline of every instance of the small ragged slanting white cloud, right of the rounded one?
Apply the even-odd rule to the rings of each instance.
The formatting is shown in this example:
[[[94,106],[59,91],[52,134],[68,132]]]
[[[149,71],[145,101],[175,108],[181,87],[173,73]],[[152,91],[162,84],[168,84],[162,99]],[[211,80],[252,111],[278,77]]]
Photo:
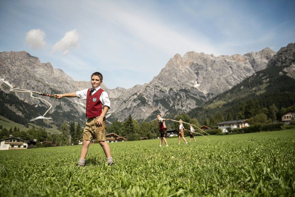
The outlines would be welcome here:
[[[79,35],[75,30],[66,32],[62,39],[60,39],[55,45],[52,47],[52,51],[50,53],[55,53],[58,50],[61,50],[63,55],[67,54],[74,47],[79,48],[80,44],[78,43]]]

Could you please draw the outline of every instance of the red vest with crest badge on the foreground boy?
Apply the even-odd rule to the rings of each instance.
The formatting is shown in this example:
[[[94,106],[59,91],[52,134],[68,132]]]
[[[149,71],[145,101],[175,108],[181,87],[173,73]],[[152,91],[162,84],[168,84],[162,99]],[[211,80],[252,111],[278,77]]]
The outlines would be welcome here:
[[[102,112],[102,104],[99,100],[103,89],[97,90],[94,94],[90,96],[89,89],[87,90],[87,98],[86,98],[86,114],[85,118],[94,118],[101,115]]]

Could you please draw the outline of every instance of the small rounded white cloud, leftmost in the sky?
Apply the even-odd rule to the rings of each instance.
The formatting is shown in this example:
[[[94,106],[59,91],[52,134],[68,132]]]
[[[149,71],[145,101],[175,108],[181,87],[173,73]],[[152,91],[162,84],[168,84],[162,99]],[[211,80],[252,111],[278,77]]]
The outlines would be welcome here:
[[[41,29],[32,29],[26,33],[26,44],[32,49],[43,48],[45,46],[45,32]]]

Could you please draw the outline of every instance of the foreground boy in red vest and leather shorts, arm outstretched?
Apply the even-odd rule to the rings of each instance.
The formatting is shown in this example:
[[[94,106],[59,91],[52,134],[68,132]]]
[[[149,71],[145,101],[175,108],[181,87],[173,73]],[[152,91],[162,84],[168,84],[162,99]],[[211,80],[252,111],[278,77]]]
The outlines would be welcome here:
[[[106,161],[108,165],[113,165],[113,158],[111,155],[111,149],[106,142],[106,113],[110,108],[109,96],[103,89],[100,88],[102,83],[102,74],[95,72],[91,75],[92,88],[84,89],[77,92],[71,92],[66,94],[55,94],[57,99],[62,97],[77,97],[86,100],[86,125],[83,130],[83,144],[81,148],[81,154],[77,167],[85,165],[85,158],[88,152],[88,147],[91,140],[96,137],[100,146],[104,150],[106,155]]]

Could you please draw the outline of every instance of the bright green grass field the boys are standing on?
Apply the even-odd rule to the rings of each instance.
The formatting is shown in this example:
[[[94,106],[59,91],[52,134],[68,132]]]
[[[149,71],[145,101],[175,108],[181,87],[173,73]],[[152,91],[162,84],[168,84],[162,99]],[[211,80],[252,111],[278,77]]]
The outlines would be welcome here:
[[[294,196],[295,130],[0,151],[1,196]],[[189,138],[186,137],[188,140]]]

